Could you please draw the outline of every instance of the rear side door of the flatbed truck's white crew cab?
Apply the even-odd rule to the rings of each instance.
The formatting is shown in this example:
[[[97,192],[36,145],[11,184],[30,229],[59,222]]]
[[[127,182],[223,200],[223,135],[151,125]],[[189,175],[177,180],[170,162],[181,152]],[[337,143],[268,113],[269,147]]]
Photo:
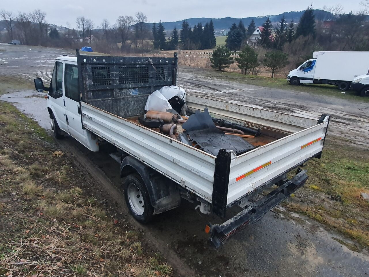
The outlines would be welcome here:
[[[69,134],[83,145],[86,144],[85,130],[82,129],[78,90],[77,65],[65,63],[64,66],[65,119]]]

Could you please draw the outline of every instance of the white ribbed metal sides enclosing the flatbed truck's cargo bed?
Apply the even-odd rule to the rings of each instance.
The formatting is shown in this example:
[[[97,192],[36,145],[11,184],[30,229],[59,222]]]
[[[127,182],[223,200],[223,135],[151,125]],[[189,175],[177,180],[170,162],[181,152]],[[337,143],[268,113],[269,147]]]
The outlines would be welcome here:
[[[221,199],[227,206],[319,155],[329,121],[329,116],[322,116],[317,121],[192,95],[187,96],[187,106],[193,110],[207,107],[212,116],[259,127],[262,133],[267,134],[262,140],[257,141],[256,138],[254,141],[260,147],[239,156],[230,153],[230,166],[222,170],[228,173],[227,190],[223,195],[225,199]],[[217,157],[141,126],[135,120],[125,119],[85,102],[81,102],[81,108],[82,123],[87,130],[207,202],[214,201],[215,175],[224,175],[224,172],[216,172]]]

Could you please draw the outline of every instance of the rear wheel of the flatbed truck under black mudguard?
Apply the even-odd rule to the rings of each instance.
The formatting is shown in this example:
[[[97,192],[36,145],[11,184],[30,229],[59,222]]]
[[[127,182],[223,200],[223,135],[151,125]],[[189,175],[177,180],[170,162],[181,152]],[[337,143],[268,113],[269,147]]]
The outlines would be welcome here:
[[[154,208],[142,178],[137,174],[128,175],[123,182],[124,198],[131,215],[138,222],[149,223],[154,218]]]

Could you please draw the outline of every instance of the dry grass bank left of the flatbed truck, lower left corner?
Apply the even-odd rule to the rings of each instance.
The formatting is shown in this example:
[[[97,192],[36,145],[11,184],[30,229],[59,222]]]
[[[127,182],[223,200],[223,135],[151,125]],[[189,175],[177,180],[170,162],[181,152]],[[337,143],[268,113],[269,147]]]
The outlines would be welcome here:
[[[76,186],[83,173],[44,135],[0,102],[0,276],[171,275],[139,232]]]

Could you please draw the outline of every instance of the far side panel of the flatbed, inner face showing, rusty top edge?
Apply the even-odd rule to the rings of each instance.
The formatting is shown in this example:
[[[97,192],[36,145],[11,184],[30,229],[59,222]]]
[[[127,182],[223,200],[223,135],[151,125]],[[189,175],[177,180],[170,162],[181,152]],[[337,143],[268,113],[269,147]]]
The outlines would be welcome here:
[[[186,102],[190,109],[204,110],[207,107],[209,113],[218,114],[222,118],[225,116],[235,122],[249,122],[286,133],[295,133],[317,123],[316,119],[193,95],[187,95]]]

